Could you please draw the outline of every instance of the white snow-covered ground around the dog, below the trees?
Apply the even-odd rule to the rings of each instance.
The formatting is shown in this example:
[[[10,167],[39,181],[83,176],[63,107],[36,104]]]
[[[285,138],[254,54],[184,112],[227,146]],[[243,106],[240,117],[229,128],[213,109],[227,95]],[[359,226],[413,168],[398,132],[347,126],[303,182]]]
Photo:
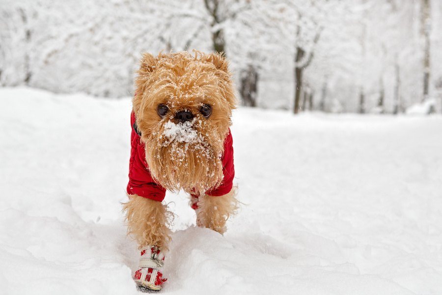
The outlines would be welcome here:
[[[131,101],[0,89],[0,294],[136,294]],[[184,194],[162,294],[442,292],[442,117],[240,108],[244,203],[221,236]]]

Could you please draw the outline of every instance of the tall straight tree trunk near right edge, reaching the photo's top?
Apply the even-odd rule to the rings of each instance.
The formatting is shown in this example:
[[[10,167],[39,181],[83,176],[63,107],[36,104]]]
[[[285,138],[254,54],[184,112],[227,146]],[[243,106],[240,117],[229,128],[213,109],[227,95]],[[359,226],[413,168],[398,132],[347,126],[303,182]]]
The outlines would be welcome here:
[[[430,88],[430,33],[431,33],[431,9],[430,0],[421,0],[421,34],[424,38],[424,58],[423,58],[423,98],[428,98]]]

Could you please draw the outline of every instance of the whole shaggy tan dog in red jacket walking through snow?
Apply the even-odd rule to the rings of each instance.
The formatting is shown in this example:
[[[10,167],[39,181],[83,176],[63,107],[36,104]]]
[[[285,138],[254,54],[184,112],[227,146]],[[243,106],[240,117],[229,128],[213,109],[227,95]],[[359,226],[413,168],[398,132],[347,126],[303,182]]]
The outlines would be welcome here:
[[[131,158],[123,204],[128,234],[141,250],[134,279],[161,290],[161,267],[173,214],[166,189],[184,190],[196,224],[223,234],[238,208],[233,186],[232,110],[236,98],[227,60],[218,53],[145,53],[131,114]]]

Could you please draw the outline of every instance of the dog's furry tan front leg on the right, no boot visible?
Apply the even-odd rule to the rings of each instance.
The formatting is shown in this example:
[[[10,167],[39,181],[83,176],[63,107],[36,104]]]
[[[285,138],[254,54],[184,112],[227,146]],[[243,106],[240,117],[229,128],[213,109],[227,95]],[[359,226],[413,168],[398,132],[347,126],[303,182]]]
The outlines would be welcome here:
[[[219,197],[200,196],[196,209],[196,225],[223,234],[226,231],[225,222],[238,209],[235,190],[232,188],[229,193]]]

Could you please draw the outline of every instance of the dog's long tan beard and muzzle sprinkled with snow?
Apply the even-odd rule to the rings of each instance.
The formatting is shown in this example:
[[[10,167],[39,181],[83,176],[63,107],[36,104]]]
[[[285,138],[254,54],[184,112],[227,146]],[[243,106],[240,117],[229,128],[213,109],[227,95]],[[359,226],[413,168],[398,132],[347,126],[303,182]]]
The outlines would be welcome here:
[[[162,121],[146,142],[152,177],[163,187],[197,195],[218,187],[223,179],[223,140],[198,118],[184,123]]]

